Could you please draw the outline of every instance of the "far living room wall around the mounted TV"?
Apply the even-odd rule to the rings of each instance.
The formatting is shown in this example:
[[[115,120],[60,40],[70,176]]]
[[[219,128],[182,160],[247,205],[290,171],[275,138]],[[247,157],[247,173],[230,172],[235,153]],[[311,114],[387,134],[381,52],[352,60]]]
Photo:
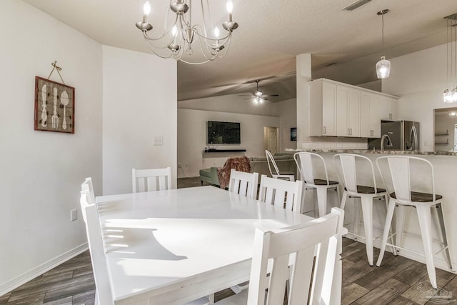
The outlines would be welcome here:
[[[219,149],[246,149],[241,153],[203,154],[206,144],[206,121],[234,121],[241,127],[241,144],[219,145]],[[279,127],[275,116],[231,114],[219,111],[178,109],[178,163],[179,177],[199,176],[199,170],[223,166],[229,156],[263,156],[263,126]]]

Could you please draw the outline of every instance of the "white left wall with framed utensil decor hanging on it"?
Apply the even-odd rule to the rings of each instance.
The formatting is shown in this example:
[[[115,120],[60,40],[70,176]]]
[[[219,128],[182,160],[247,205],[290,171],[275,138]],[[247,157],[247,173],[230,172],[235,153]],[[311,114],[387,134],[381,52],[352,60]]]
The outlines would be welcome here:
[[[0,36],[1,295],[86,242],[70,210],[86,176],[101,190],[102,61],[96,41],[19,0],[0,1]],[[75,87],[75,134],[34,131],[34,79],[54,61]]]

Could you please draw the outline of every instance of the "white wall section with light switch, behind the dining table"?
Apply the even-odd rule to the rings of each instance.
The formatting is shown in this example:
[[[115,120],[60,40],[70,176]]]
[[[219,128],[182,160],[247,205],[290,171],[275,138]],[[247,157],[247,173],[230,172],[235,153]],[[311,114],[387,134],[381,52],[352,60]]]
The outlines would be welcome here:
[[[131,192],[133,168],[171,166],[176,187],[176,84],[176,61],[103,46],[105,195]]]

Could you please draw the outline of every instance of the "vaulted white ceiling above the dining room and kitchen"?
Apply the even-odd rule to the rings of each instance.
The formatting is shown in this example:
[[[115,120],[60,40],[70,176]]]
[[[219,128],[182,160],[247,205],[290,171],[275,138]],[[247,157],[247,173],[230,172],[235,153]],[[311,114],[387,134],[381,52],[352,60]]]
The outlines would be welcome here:
[[[145,0],[24,1],[101,44],[149,52],[135,27]],[[225,1],[209,2],[225,7]],[[354,2],[233,0],[239,28],[229,53],[199,66],[179,62],[178,99],[251,92],[256,79],[262,80],[266,94],[280,95],[271,101],[291,99],[296,96],[298,54],[311,54],[313,78],[348,84],[375,81],[374,66],[381,55],[389,59],[446,43],[443,17],[457,13],[456,0],[371,0],[353,11],[343,10]],[[155,27],[160,28],[164,16],[154,9],[167,3],[151,0],[149,21]],[[390,10],[384,16],[384,46],[381,16],[376,14],[381,9]]]

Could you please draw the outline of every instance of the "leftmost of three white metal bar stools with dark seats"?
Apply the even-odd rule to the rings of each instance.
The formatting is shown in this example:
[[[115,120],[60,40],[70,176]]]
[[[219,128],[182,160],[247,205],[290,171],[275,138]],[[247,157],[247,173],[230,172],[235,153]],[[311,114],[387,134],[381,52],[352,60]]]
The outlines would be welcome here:
[[[318,154],[311,152],[298,152],[293,154],[293,159],[297,164],[298,172],[300,173],[300,177],[303,180],[303,184],[305,186],[303,194],[307,189],[316,189],[318,216],[322,217],[323,215],[327,214],[328,189],[336,190],[338,201],[341,198],[338,188],[338,181],[332,181],[328,179],[326,161],[322,156],[319,156]],[[323,170],[325,179],[316,178],[317,169]]]

